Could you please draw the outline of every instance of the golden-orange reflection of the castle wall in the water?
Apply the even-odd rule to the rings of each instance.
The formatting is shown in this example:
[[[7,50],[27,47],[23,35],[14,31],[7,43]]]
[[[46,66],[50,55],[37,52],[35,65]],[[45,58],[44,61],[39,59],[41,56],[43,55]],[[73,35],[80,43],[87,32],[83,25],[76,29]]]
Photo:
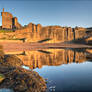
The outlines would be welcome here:
[[[15,54],[30,69],[42,68],[43,66],[82,63],[87,60],[87,53],[85,51],[80,52],[71,49],[45,49],[11,54]]]

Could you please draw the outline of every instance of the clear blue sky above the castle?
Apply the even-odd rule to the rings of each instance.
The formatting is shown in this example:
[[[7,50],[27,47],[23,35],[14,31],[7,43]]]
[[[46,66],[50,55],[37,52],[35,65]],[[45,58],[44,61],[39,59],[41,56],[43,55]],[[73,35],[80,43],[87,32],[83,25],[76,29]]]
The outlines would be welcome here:
[[[92,0],[0,0],[0,12],[3,8],[22,25],[92,27]]]

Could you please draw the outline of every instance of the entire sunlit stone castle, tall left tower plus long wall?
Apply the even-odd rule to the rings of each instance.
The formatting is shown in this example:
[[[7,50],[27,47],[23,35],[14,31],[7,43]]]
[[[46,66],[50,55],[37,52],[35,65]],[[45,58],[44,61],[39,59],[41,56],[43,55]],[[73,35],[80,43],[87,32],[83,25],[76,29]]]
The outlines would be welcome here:
[[[26,39],[27,42],[59,43],[79,39],[86,35],[86,29],[82,27],[43,27],[41,24],[35,25],[33,23],[29,23],[27,26],[22,27],[21,24],[18,23],[17,17],[13,17],[9,12],[4,12],[4,9],[1,15],[2,29],[15,30],[12,34],[8,34],[11,39],[14,37]]]

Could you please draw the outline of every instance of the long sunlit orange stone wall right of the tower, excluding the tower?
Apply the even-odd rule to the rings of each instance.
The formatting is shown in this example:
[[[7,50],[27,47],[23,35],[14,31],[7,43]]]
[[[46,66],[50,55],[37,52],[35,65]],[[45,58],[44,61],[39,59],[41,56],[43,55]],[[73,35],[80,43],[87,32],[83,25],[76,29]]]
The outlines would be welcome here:
[[[45,43],[59,43],[71,41],[85,36],[84,28],[60,27],[60,26],[46,26],[42,27],[40,24],[28,24],[27,27],[16,30],[16,34],[21,34],[20,37],[26,38],[27,42],[45,42]],[[18,35],[19,37],[19,35]]]

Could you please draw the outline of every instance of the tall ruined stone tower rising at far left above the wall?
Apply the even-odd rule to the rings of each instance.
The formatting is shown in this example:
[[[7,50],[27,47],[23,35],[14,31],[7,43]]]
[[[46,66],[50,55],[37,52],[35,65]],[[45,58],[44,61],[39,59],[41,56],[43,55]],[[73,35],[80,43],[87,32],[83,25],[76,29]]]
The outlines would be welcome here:
[[[2,16],[2,28],[3,29],[19,29],[22,26],[18,23],[18,19],[16,17],[13,17],[13,15],[9,12],[1,13]]]

